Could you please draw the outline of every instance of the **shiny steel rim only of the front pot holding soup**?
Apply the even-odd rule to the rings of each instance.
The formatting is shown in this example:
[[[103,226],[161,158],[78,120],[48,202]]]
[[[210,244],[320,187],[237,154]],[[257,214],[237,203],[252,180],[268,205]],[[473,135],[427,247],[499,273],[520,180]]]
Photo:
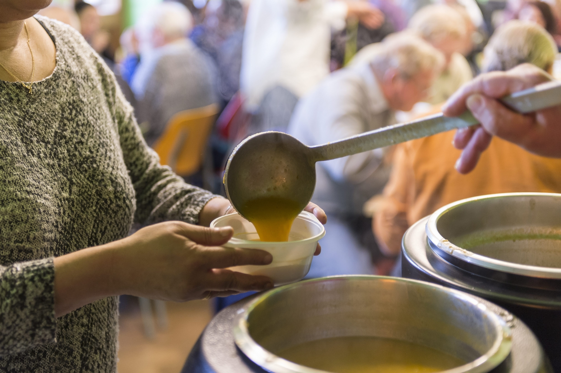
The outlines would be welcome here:
[[[282,357],[274,355],[274,353],[267,351],[265,348],[261,347],[259,343],[255,342],[255,340],[251,337],[248,325],[247,325],[247,318],[252,310],[255,309],[257,305],[261,302],[265,301],[268,297],[275,295],[276,293],[283,292],[288,290],[289,288],[304,286],[307,283],[311,282],[321,282],[321,281],[332,281],[332,280],[346,280],[352,281],[354,280],[381,280],[381,281],[399,281],[399,282],[408,282],[408,283],[416,283],[419,286],[436,288],[448,293],[452,293],[454,296],[461,298],[464,301],[470,302],[473,305],[476,305],[482,313],[485,313],[489,319],[493,320],[493,324],[495,325],[495,330],[497,337],[493,346],[487,351],[484,355],[476,358],[471,362],[466,363],[465,365],[461,365],[455,367],[453,369],[441,371],[438,373],[485,373],[489,372],[490,370],[494,369],[500,363],[504,361],[504,359],[509,355],[511,352],[512,346],[512,330],[507,324],[505,319],[511,318],[511,315],[503,315],[499,316],[495,314],[493,311],[489,310],[484,304],[481,304],[476,299],[473,299],[469,294],[454,290],[451,288],[447,288],[441,285],[435,285],[433,283],[425,282],[425,281],[418,281],[408,278],[401,278],[401,277],[389,277],[389,276],[374,276],[374,275],[344,275],[344,276],[328,276],[328,277],[320,277],[314,278],[304,281],[299,281],[296,283],[292,283],[289,285],[280,286],[269,290],[263,295],[257,297],[256,299],[252,300],[241,309],[237,311],[237,315],[234,318],[233,323],[233,335],[234,341],[236,342],[237,346],[241,349],[241,351],[250,358],[253,362],[257,365],[263,367],[266,370],[269,370],[274,373],[330,373],[328,371],[313,369],[310,367],[306,367],[292,361],[288,361]]]

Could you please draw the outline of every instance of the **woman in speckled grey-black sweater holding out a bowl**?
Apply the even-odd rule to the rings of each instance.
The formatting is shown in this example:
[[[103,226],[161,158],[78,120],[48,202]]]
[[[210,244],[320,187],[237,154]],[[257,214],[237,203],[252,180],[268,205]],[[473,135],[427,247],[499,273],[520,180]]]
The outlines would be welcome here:
[[[264,290],[222,268],[272,259],[194,225],[228,201],[159,165],[103,60],[33,17],[49,3],[0,0],[0,371],[114,372],[118,295]],[[152,225],[127,237],[133,222]]]

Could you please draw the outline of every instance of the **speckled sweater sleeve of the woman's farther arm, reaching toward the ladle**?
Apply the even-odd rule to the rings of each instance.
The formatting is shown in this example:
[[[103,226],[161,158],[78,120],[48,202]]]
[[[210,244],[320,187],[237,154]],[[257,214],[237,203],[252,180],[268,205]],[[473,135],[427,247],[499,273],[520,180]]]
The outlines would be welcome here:
[[[199,213],[212,198],[222,198],[189,185],[168,166],[162,166],[136,123],[132,106],[112,78],[114,115],[125,164],[136,194],[135,222],[153,224],[168,220],[199,223]]]

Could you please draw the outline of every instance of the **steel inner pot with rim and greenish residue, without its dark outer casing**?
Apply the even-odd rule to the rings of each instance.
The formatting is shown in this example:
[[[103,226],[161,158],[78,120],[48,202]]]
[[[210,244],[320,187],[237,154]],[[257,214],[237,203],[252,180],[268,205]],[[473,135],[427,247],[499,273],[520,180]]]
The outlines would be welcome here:
[[[426,233],[436,253],[459,267],[504,282],[561,289],[561,194],[463,199],[431,215]]]

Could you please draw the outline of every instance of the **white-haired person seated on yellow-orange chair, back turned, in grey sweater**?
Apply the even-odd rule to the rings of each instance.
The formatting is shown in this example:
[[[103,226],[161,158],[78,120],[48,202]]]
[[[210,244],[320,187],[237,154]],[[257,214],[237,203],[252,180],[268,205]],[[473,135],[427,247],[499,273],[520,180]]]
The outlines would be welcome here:
[[[146,143],[152,146],[174,114],[214,104],[218,97],[213,61],[186,38],[192,29],[187,8],[164,2],[149,13],[153,20],[145,25],[149,32],[140,32],[149,40],[144,40],[145,50],[131,88],[138,100],[140,127]]]

